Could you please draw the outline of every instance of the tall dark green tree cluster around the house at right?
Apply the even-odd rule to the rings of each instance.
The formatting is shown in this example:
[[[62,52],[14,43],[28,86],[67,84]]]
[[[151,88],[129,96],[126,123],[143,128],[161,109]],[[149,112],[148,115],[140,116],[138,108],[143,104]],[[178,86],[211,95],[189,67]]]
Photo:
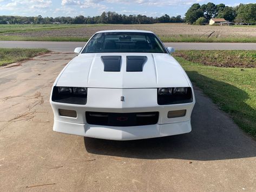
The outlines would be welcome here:
[[[226,6],[221,3],[198,4],[195,3],[185,14],[185,21],[189,24],[208,23],[211,18],[225,18],[226,21],[235,23],[256,24],[256,3]]]

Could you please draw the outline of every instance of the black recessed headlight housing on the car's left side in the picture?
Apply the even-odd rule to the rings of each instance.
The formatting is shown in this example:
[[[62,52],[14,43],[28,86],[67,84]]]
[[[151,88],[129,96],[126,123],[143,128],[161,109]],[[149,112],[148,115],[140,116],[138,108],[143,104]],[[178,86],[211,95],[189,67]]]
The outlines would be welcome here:
[[[84,90],[84,94],[81,92]],[[52,90],[51,100],[58,103],[81,104],[87,103],[87,88],[57,87]]]

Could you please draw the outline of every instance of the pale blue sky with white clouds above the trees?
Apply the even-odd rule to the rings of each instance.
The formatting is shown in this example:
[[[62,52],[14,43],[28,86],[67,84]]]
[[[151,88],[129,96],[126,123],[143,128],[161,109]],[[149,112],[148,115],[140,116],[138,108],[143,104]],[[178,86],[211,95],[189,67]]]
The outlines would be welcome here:
[[[119,14],[141,14],[159,17],[181,15],[193,3],[204,4],[201,0],[0,0],[0,15],[20,15],[57,17],[57,16],[96,16],[103,11],[115,11]],[[228,0],[211,1],[215,4],[224,3],[235,6],[239,3],[255,3],[255,1]]]

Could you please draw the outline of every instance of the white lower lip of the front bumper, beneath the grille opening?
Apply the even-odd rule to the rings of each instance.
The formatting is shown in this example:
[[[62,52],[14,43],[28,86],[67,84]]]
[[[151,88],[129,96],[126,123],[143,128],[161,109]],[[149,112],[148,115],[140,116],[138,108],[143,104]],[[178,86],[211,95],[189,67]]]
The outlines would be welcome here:
[[[55,120],[54,131],[107,140],[139,140],[189,133],[191,131],[191,121],[135,127],[108,127]]]

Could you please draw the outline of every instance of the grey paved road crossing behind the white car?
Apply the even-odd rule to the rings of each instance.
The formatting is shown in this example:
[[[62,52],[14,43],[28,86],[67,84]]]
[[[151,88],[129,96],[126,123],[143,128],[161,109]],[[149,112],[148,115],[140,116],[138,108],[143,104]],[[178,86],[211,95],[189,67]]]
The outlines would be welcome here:
[[[0,41],[1,48],[47,48],[72,52],[86,42]],[[256,50],[256,43],[165,43],[166,47],[186,50]]]

